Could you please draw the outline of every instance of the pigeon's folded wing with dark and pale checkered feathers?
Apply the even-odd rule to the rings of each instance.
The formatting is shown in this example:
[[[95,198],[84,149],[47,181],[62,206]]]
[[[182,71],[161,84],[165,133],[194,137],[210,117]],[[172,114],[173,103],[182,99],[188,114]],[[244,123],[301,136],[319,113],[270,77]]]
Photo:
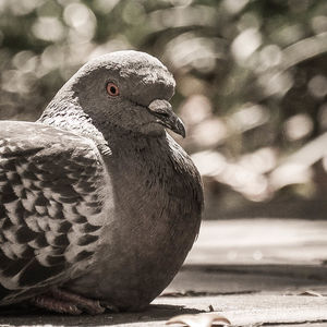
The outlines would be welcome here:
[[[107,178],[90,140],[40,123],[0,122],[0,304],[92,264]]]

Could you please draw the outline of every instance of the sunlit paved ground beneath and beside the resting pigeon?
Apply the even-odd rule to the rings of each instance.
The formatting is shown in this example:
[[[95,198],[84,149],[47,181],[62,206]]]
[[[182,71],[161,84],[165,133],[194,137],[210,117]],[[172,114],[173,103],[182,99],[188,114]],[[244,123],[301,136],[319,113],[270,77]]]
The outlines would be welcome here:
[[[233,326],[327,326],[327,220],[205,221],[183,268],[146,312],[2,312],[0,326],[165,326],[175,315],[214,312]]]

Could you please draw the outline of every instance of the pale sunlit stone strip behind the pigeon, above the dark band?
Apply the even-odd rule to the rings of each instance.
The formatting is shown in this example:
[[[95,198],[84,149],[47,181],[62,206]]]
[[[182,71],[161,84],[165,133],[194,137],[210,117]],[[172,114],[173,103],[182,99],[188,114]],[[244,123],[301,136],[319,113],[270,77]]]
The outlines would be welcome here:
[[[327,220],[235,219],[205,221],[187,264],[327,263]]]

